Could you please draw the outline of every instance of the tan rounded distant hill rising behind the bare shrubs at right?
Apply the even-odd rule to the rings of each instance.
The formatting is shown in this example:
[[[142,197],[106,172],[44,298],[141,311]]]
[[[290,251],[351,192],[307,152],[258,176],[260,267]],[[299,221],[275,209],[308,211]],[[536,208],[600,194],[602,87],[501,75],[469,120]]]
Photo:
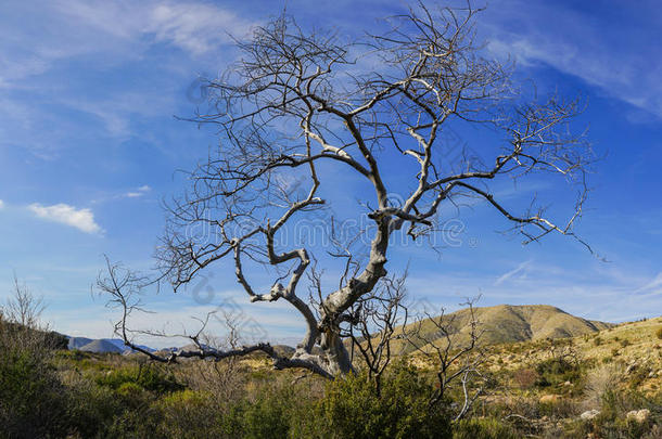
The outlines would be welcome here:
[[[495,345],[501,343],[518,343],[544,338],[566,338],[596,333],[614,326],[594,320],[572,315],[549,305],[497,305],[494,307],[474,308],[474,315],[483,332],[481,343]],[[462,309],[444,317],[451,328],[453,343],[461,344],[470,338],[471,313]],[[410,332],[415,324],[398,327],[395,335]],[[430,319],[420,324],[420,333],[430,345],[440,346],[445,337]],[[407,343],[398,340],[400,351],[410,351]],[[431,348],[432,346],[429,346]]]

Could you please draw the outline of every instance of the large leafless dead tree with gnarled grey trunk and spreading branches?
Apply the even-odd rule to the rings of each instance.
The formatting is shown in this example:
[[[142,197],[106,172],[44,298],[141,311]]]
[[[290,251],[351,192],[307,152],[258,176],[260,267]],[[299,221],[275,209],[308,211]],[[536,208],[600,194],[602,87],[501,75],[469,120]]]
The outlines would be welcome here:
[[[260,350],[278,367],[324,376],[349,372],[341,324],[386,276],[395,235],[417,240],[438,232],[441,207],[462,197],[496,209],[525,242],[552,232],[578,240],[573,224],[593,157],[584,133],[571,127],[582,104],[518,95],[511,66],[485,57],[474,41],[479,12],[421,2],[392,17],[386,31],[357,41],[307,31],[281,16],[238,42],[241,61],[209,80],[211,105],[194,118],[218,128],[220,145],[189,173],[190,188],[169,205],[157,259],[177,290],[216,261],[232,258],[252,302],[290,302],[307,332],[289,359],[268,345],[182,356]],[[493,143],[480,145],[481,154],[460,152],[449,160],[448,133],[462,127],[491,130]],[[370,234],[371,242],[364,248],[357,248],[360,240],[355,243],[353,251],[364,250],[366,258],[353,258],[354,274],[340,274],[338,287],[322,286],[315,304],[298,294],[315,248],[283,236],[295,221],[330,208],[328,188],[343,184],[330,171],[356,176],[369,189],[360,196],[370,199],[354,211],[368,219],[360,234]],[[493,191],[495,182],[540,173],[577,189],[575,208],[562,224],[535,204],[512,211]],[[406,178],[409,183],[402,182]],[[393,193],[403,202],[393,203]],[[191,233],[195,229],[206,233]],[[247,263],[279,271],[269,290],[256,290]],[[119,288],[111,290],[122,297]]]

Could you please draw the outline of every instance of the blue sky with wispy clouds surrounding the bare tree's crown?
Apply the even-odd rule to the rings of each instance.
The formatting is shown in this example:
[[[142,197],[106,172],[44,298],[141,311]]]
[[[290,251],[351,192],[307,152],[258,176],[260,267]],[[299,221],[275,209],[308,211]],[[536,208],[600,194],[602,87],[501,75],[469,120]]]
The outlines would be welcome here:
[[[222,72],[237,52],[229,35],[279,14],[282,1],[3,1],[0,5],[0,299],[15,271],[61,332],[110,336],[115,315],[90,292],[103,254],[153,266],[162,199],[205,157],[214,132],[174,116],[200,102],[196,78]],[[300,24],[356,36],[404,3],[288,1]],[[462,214],[463,232],[441,255],[405,246],[415,299],[455,309],[550,304],[608,321],[662,309],[662,12],[653,1],[493,2],[479,17],[487,52],[517,61],[538,92],[588,98],[582,121],[603,155],[578,233],[610,262],[561,236],[522,246],[487,206]],[[471,145],[469,145],[471,146]],[[513,204],[533,192],[562,202],[545,181],[504,188]],[[174,296],[145,298],[157,314],[141,324],[190,322],[220,304],[246,331],[291,340],[303,327],[287,304],[249,305],[220,263]],[[256,282],[269,284],[262,271]],[[214,295],[207,299],[200,292]],[[206,293],[204,293],[206,294]],[[203,295],[204,295],[203,294]],[[190,323],[182,323],[188,325]]]

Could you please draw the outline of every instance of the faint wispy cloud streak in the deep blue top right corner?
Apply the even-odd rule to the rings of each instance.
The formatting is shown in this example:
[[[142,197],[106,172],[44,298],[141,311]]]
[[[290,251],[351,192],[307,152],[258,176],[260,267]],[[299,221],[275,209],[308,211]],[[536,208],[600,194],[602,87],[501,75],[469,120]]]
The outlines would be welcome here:
[[[616,8],[624,12],[629,5],[623,3]],[[654,22],[653,17],[660,15],[654,3],[642,2],[640,8],[640,14],[648,14],[648,18],[631,16],[628,26],[637,22],[645,26],[647,20]],[[614,39],[604,29],[625,25],[625,18],[623,23],[612,23],[608,17],[589,14],[589,11],[549,2],[499,3],[499,8],[488,8],[486,12],[488,50],[499,57],[512,55],[523,66],[547,64],[600,88],[612,98],[662,117],[659,80],[662,51],[650,43],[651,35],[619,33]],[[550,16],[558,25],[549,25]]]

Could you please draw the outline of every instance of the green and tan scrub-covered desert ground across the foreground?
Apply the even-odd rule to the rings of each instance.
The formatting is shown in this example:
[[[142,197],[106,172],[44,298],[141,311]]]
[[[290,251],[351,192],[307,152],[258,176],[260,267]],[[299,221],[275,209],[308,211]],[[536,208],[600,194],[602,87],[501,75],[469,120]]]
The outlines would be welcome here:
[[[275,374],[263,352],[161,364],[139,352],[67,350],[63,336],[31,322],[0,321],[3,438],[653,439],[662,431],[662,318],[572,338],[394,350],[379,379],[357,356],[356,373],[334,380],[305,370]],[[448,379],[457,372],[473,375]],[[475,396],[470,403],[466,391]]]

